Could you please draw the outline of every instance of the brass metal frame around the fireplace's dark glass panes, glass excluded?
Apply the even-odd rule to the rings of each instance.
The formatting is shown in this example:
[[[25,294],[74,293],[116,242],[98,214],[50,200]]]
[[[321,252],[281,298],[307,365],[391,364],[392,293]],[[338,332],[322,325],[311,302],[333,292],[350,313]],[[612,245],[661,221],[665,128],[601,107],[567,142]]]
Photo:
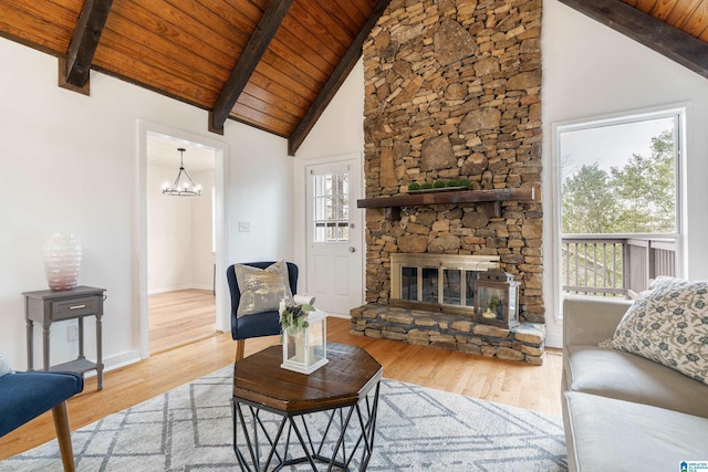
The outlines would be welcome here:
[[[467,272],[483,272],[490,269],[500,269],[500,258],[498,255],[470,255],[470,254],[410,254],[410,253],[394,253],[391,254],[391,297],[388,300],[389,306],[398,306],[410,310],[421,310],[426,312],[446,312],[459,315],[469,315],[475,317],[475,306],[465,305],[465,300],[460,301],[460,305],[450,305],[446,303],[430,303],[423,301],[409,301],[400,300],[400,282],[402,282],[402,269],[405,268],[418,268],[418,300],[421,300],[421,286],[423,286],[423,269],[437,269],[438,270],[438,301],[444,297],[444,271],[445,270],[459,270],[460,282],[467,280]],[[460,293],[464,291],[460,287]]]

